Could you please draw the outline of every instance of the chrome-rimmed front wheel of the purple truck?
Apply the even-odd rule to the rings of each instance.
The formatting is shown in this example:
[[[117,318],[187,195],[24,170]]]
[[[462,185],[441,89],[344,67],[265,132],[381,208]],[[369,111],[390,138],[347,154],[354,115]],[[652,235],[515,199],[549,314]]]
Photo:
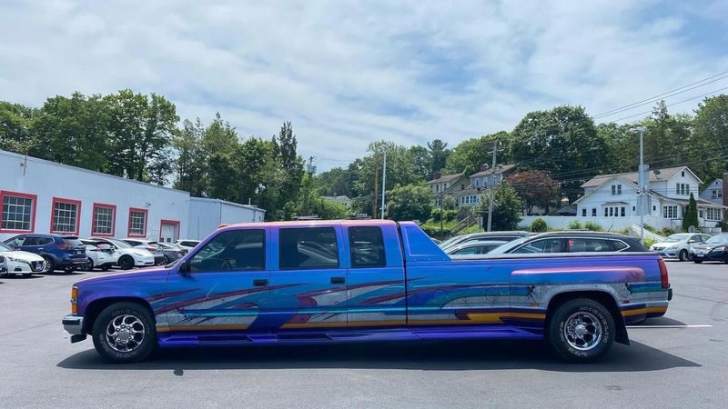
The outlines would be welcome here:
[[[128,344],[112,345],[112,337],[106,332],[112,323],[129,324],[140,333],[131,336]],[[141,361],[154,352],[157,347],[154,318],[147,307],[136,303],[116,303],[107,306],[96,317],[91,334],[94,338],[96,352],[115,364]],[[129,350],[124,351],[127,348]]]

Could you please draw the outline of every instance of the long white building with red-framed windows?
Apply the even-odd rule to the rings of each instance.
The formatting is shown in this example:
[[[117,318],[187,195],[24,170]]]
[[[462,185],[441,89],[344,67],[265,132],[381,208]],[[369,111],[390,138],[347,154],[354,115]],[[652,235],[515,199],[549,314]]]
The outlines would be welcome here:
[[[0,240],[56,233],[173,242],[187,238],[190,221],[196,220],[192,212],[200,211],[181,190],[6,151],[0,151],[0,203]],[[262,209],[237,217],[226,214],[223,223],[259,221],[261,214]],[[218,225],[204,224],[195,238]]]

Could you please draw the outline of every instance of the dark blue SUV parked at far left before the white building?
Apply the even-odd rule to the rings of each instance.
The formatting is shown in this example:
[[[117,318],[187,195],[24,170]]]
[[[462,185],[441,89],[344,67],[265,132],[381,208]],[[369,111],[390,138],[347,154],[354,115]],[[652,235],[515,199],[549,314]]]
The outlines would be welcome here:
[[[43,273],[72,273],[86,264],[86,249],[78,237],[60,234],[20,234],[5,240],[15,250],[35,253],[45,259]]]

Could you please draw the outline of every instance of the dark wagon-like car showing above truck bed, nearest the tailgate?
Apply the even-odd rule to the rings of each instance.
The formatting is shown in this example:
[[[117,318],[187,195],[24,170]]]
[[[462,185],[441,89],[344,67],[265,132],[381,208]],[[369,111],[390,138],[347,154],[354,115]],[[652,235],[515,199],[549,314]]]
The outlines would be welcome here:
[[[599,232],[550,232],[523,237],[501,245],[489,254],[647,252],[640,239]]]

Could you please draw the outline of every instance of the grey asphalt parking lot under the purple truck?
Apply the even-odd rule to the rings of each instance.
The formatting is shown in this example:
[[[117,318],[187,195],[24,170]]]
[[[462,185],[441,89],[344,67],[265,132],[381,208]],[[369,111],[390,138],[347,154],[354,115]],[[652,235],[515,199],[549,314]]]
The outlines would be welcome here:
[[[668,266],[667,315],[588,365],[512,341],[180,349],[105,364],[60,324],[71,284],[104,273],[0,278],[0,406],[723,407],[728,266]],[[683,324],[699,326],[662,328]]]

